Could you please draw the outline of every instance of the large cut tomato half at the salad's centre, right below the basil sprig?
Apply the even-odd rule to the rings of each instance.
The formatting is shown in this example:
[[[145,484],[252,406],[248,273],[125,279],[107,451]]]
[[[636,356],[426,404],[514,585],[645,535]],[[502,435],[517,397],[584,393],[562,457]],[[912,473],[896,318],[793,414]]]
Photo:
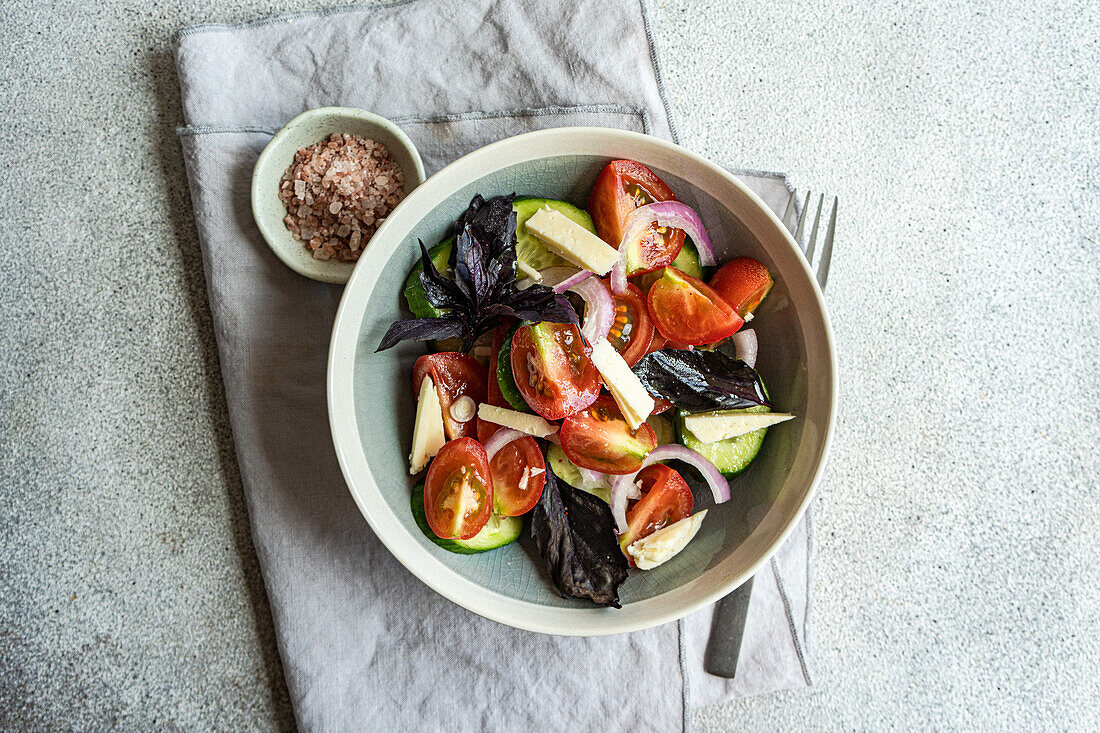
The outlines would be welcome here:
[[[600,396],[600,371],[581,331],[569,324],[529,324],[512,337],[512,374],[531,409],[560,420]]]

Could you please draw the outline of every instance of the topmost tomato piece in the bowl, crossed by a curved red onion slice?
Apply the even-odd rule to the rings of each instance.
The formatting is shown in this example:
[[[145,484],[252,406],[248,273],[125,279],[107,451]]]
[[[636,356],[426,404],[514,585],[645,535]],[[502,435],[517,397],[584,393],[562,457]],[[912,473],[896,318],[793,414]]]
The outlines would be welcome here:
[[[674,200],[672,189],[641,163],[612,161],[600,172],[592,187],[588,214],[596,233],[617,249],[631,211],[653,201]],[[630,243],[630,272],[646,272],[671,263],[683,244],[684,232],[680,229],[650,225],[638,241]]]

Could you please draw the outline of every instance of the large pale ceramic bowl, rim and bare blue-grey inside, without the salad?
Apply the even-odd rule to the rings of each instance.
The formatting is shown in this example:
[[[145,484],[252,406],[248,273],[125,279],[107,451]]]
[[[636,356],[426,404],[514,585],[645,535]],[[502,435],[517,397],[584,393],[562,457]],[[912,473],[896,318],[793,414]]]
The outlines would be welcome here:
[[[443,239],[475,194],[544,196],[583,206],[612,160],[641,161],[695,207],[719,260],[749,255],[776,286],[752,321],[760,370],[777,408],[798,419],[769,430],[757,460],[732,480],[698,536],[654,570],[631,571],[622,609],[561,598],[526,539],[453,555],[420,534],[409,511],[416,402],[413,362],[425,347],[374,349],[407,317],[402,288],[417,239]],[[432,589],[474,613],[536,632],[617,634],[679,619],[750,578],[805,511],[821,477],[836,407],[836,357],[822,294],[794,241],[765,204],[723,168],[656,138],[601,128],[530,132],[477,150],[429,178],[378,229],[344,291],[329,353],[329,414],[337,455],[363,516],[389,551]],[[697,486],[701,488],[701,486]],[[695,491],[696,507],[712,506]]]

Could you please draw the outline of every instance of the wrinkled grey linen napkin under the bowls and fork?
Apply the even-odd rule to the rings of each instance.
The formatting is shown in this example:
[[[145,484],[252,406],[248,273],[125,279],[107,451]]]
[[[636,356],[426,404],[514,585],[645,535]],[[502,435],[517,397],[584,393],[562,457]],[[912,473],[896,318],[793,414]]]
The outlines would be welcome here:
[[[306,280],[252,220],[250,174],[305,109],[397,121],[431,174],[501,138],[604,125],[675,139],[638,0],[405,0],[204,25],[176,37],[179,131],[252,533],[306,730],[676,730],[692,707],[810,681],[804,522],[754,588],[736,680],[703,670],[710,609],[602,638],[503,626],[383,547],[344,486],[324,371],[339,286]],[[774,174],[739,173],[773,208]]]

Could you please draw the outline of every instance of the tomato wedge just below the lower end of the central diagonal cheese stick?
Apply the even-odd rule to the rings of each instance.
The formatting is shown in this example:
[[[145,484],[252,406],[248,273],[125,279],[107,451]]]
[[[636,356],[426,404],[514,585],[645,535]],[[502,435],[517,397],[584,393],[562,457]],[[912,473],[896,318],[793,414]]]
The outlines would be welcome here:
[[[603,473],[632,473],[657,448],[657,434],[647,423],[631,430],[623,411],[608,394],[566,417],[561,424],[561,449],[581,468]]]

